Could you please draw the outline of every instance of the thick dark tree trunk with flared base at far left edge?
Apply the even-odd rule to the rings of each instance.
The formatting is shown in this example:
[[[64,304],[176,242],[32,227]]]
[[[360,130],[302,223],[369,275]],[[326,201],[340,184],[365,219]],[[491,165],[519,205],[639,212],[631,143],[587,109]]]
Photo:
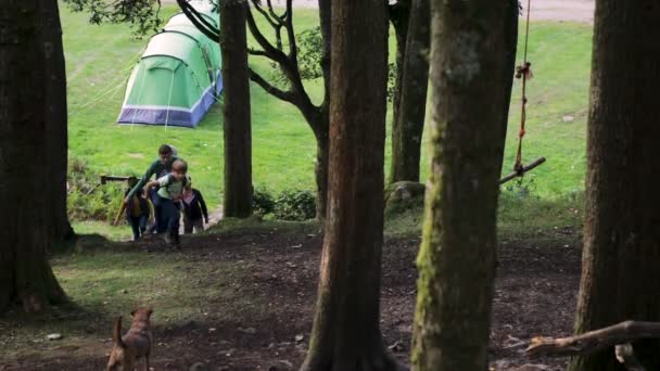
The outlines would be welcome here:
[[[48,42],[41,1],[0,7],[0,203],[11,217],[0,222],[0,311],[20,303],[28,312],[64,299],[46,257],[49,197],[45,191]]]

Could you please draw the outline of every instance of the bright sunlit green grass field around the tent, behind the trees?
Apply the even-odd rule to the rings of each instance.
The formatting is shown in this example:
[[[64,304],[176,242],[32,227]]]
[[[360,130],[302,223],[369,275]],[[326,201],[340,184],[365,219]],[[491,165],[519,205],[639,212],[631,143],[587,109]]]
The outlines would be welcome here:
[[[173,12],[175,8],[166,8],[165,14]],[[147,40],[135,40],[126,25],[90,25],[87,15],[66,9],[62,10],[62,18],[68,74],[69,155],[84,158],[98,172],[141,175],[155,157],[157,146],[172,143],[189,162],[190,175],[208,203],[218,204],[223,192],[220,105],[214,105],[196,129],[116,125],[126,79]],[[316,11],[296,10],[297,31],[317,24]],[[535,78],[529,85],[523,158],[530,162],[537,156],[547,157],[548,162],[531,172],[529,179],[534,179],[535,193],[541,197],[560,199],[583,189],[592,31],[588,25],[571,23],[533,23],[531,31],[529,60]],[[390,49],[392,60],[393,37]],[[251,59],[250,63],[269,75],[270,66],[264,59]],[[505,172],[515,156],[519,84],[517,80],[513,87]],[[307,81],[306,86],[318,101],[321,81]],[[255,85],[251,93],[255,186],[275,192],[313,189],[316,145],[302,115]],[[478,108],[480,102],[474,104]],[[564,121],[563,116],[573,119]],[[385,157],[389,164],[389,139]],[[422,181],[428,168],[424,156]],[[87,227],[91,225],[84,228]]]

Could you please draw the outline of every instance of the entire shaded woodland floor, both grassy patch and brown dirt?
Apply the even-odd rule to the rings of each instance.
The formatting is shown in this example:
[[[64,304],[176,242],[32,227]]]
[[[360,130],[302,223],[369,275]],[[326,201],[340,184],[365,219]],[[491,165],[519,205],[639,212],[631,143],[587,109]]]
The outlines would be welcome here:
[[[529,360],[525,342],[568,335],[580,277],[579,232],[502,240],[490,357],[492,370]],[[53,266],[74,305],[41,319],[0,318],[0,370],[99,370],[113,318],[140,303],[154,307],[154,370],[294,370],[312,329],[322,238],[315,225],[264,222],[185,238],[182,251],[155,239],[138,244],[84,236]],[[386,238],[382,320],[385,346],[408,362],[419,239]],[[49,333],[62,340],[46,340]],[[272,368],[275,367],[275,368]]]

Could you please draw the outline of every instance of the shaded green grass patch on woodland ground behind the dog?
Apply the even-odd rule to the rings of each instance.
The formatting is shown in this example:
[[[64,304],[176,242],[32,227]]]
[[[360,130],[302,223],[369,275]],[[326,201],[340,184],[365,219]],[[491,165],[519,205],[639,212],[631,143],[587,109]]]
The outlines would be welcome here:
[[[7,332],[0,331],[0,344],[5,345],[3,360],[56,356],[58,349],[68,346],[79,348],[77,357],[84,357],[82,354],[102,357],[107,345],[99,340],[110,337],[112,320],[123,315],[127,321],[130,310],[139,306],[155,308],[158,325],[163,328],[261,314],[262,306],[253,303],[252,296],[232,287],[251,274],[249,263],[177,253],[149,254],[116,243],[93,248],[99,244],[94,236],[82,236],[80,243],[89,245],[89,250],[59,254],[51,259],[71,303],[39,316],[12,311],[3,317],[4,322],[0,321],[0,329],[7,327]],[[223,310],[217,310],[219,306]],[[56,346],[45,342],[51,333],[64,336]]]

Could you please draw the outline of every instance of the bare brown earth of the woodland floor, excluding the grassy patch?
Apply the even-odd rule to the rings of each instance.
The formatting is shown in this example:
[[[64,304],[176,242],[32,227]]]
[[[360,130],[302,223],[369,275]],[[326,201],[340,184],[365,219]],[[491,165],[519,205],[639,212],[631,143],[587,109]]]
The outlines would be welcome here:
[[[407,363],[410,350],[418,245],[415,239],[388,239],[384,245],[381,328],[385,345],[402,363]],[[155,241],[140,247],[151,254],[172,254]],[[162,323],[154,315],[153,369],[189,370],[196,362],[207,367],[202,370],[296,369],[305,356],[312,328],[321,238],[305,232],[243,231],[185,239],[188,260],[249,264],[249,274],[231,277],[231,284],[221,290],[251,297],[254,307],[200,303],[200,307],[214,308],[204,321],[176,324]],[[560,360],[530,361],[522,350],[532,336],[571,332],[579,276],[579,246],[502,243],[490,346],[493,370],[530,362],[544,363],[548,367],[545,370],[562,369]],[[218,277],[208,274],[192,285],[208,286],[218,281]],[[219,311],[231,312],[231,319],[218,316]],[[90,329],[88,338],[78,345],[69,342],[39,349],[36,356],[33,353],[4,362],[0,359],[0,370],[102,369],[110,348],[106,330],[107,325]],[[302,341],[296,340],[300,335],[304,336]]]

